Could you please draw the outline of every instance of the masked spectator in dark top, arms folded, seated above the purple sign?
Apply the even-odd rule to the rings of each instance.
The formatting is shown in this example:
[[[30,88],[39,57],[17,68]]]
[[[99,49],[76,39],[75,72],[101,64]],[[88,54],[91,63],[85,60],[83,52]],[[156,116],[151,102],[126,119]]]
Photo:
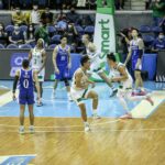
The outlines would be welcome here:
[[[10,34],[9,42],[16,45],[24,43],[24,34],[20,31],[19,24],[14,24],[14,31]]]

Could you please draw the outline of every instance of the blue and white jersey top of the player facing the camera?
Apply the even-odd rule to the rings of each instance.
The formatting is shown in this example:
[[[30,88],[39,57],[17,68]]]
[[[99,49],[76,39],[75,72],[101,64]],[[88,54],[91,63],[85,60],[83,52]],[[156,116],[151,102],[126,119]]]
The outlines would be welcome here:
[[[57,66],[66,66],[68,64],[68,51],[69,46],[66,45],[64,48],[62,48],[61,45],[57,46],[57,56],[56,56],[56,64]]]

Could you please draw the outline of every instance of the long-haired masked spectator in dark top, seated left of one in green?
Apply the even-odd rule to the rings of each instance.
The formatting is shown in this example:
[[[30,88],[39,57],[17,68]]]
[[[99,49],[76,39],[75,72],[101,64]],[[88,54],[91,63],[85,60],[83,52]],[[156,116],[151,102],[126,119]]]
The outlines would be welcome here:
[[[35,46],[34,26],[30,24],[25,34],[25,43]]]

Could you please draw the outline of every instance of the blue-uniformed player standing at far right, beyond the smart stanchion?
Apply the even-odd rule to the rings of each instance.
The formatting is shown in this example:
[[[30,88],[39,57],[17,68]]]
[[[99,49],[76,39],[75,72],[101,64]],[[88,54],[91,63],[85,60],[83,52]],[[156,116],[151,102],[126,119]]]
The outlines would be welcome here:
[[[135,29],[132,30],[132,37],[133,40],[130,42],[130,51],[124,65],[127,65],[131,58],[132,70],[134,72],[134,78],[135,78],[135,88],[136,89],[140,88],[141,92],[144,92],[143,79],[141,76],[144,43],[143,40],[139,37],[139,32]]]

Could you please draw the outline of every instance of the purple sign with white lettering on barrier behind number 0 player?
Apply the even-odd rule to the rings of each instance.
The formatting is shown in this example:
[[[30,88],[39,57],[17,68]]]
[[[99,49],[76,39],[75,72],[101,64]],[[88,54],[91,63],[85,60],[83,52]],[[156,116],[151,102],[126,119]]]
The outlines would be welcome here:
[[[28,58],[28,53],[13,53],[10,59],[10,76],[14,77],[15,72],[22,67],[23,59]]]

